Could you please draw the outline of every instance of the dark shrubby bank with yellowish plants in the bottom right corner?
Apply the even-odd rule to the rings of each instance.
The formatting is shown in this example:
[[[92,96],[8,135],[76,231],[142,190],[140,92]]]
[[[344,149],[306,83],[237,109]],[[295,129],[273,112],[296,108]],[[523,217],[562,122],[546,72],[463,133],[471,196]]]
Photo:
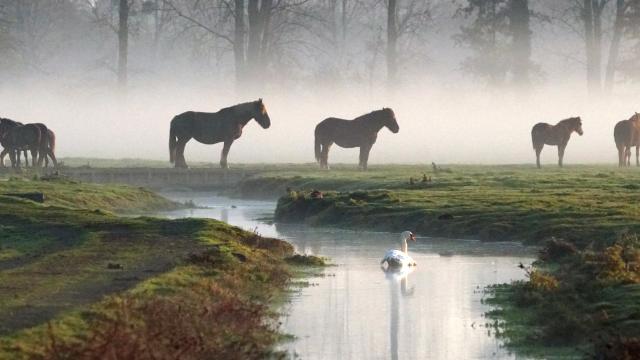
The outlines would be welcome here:
[[[596,359],[640,357],[640,241],[624,237],[600,250],[549,241],[528,280],[489,290],[489,315],[508,346],[544,347]]]

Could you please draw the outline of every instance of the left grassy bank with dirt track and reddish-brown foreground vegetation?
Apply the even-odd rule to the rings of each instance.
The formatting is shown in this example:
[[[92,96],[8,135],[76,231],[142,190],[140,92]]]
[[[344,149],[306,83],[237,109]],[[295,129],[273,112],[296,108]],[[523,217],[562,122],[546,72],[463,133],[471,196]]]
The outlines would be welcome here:
[[[263,358],[292,247],[215,220],[119,217],[145,190],[0,181],[0,358]]]

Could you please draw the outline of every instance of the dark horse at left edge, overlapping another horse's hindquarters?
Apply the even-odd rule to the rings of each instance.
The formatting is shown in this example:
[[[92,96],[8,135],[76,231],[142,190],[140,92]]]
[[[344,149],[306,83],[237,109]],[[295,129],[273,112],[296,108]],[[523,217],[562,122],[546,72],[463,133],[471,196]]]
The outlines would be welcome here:
[[[0,145],[8,150],[11,159],[11,167],[20,167],[16,153],[25,148],[31,151],[32,166],[36,166],[38,151],[43,143],[43,133],[36,124],[18,125],[6,131],[0,139]],[[27,161],[28,165],[28,161]]]

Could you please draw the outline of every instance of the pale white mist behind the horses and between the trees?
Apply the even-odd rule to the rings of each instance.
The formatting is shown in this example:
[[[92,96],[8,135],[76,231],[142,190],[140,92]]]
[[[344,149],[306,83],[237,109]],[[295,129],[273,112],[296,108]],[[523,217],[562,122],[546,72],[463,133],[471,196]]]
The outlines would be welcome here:
[[[10,19],[15,1],[3,3],[2,13]],[[117,2],[102,3],[94,2],[95,9],[117,7]],[[142,9],[143,3],[153,2],[133,1],[131,9]],[[351,5],[354,20],[337,50],[320,36],[325,24],[314,20],[332,2],[297,5],[295,13],[274,8],[274,25],[279,27],[274,26],[278,32],[272,34],[264,72],[242,83],[234,76],[230,44],[211,35],[212,29],[232,33],[228,19],[211,15],[223,14],[222,5],[201,9],[189,1],[169,3],[173,7],[162,8],[160,14],[166,19],[158,48],[152,48],[152,32],[157,31],[153,19],[132,17],[126,85],[117,83],[114,70],[118,38],[92,17],[91,8],[74,1],[48,12],[30,8],[34,21],[29,51],[22,48],[27,46],[24,41],[7,40],[16,57],[7,60],[1,72],[0,116],[46,123],[57,134],[58,157],[168,163],[173,116],[189,110],[215,112],[262,98],[272,126],[265,130],[250,122],[231,148],[231,164],[313,162],[313,130],[318,122],[327,117],[351,119],[382,107],[395,111],[400,132],[381,130],[371,151],[372,164],[534,163],[531,127],[580,116],[585,134],[573,134],[569,142],[565,163],[570,165],[616,164],[613,126],[638,110],[640,88],[635,73],[624,67],[630,61],[634,64],[634,35],[625,32],[623,37],[613,89],[594,94],[581,60],[584,39],[567,28],[567,21],[555,18],[563,13],[574,19],[568,4],[564,12],[554,1],[531,5],[532,13],[541,15],[531,18],[530,57],[535,70],[523,87],[513,86],[508,72],[496,84],[465,69],[465,59],[475,50],[456,40],[460,28],[473,20],[473,15],[456,15],[464,1],[462,5],[400,2],[400,20],[414,5],[411,11],[424,16],[407,20],[413,25],[399,37],[398,74],[392,84],[385,62],[385,3]],[[615,22],[613,5],[605,10],[604,59]],[[116,21],[117,14],[110,11],[111,21]],[[178,11],[188,12],[190,18]],[[307,15],[295,17],[302,12]],[[209,21],[211,29],[193,26],[194,18]],[[10,28],[7,34],[18,39],[17,31]],[[221,148],[191,140],[185,156],[187,162],[217,163]],[[357,149],[332,147],[331,163],[357,164],[357,159]],[[545,147],[542,159],[554,164],[556,148]]]

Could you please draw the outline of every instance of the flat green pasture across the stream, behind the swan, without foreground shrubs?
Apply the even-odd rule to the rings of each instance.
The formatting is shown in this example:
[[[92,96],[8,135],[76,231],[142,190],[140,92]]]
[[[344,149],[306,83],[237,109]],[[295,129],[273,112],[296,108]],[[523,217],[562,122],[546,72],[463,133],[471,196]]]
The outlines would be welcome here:
[[[266,172],[241,193],[280,194],[279,221],[532,244],[556,236],[586,245],[640,230],[639,184],[640,171],[612,166],[301,167]],[[311,189],[324,198],[312,199]]]

